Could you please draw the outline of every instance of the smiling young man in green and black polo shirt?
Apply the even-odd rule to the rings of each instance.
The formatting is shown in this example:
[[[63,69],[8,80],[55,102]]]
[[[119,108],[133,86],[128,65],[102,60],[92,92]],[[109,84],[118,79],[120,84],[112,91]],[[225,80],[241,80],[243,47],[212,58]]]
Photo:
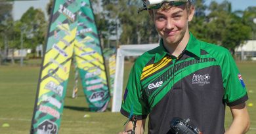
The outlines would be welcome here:
[[[234,59],[221,46],[196,39],[188,31],[194,15],[189,0],[146,0],[160,46],[140,56],[129,76],[121,114],[136,115],[136,133],[166,134],[175,117],[203,134],[245,133],[249,115],[247,93]],[[224,130],[225,105],[233,121]],[[131,120],[121,133],[130,133]]]

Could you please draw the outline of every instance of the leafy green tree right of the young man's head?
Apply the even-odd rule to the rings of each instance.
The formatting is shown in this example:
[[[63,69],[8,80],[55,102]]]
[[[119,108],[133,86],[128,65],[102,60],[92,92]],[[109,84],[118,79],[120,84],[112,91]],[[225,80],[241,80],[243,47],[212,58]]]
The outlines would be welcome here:
[[[242,22],[237,12],[232,12],[231,3],[223,1],[218,4],[213,1],[208,10],[210,13],[205,16],[206,20],[199,20],[198,25],[203,41],[219,44],[230,50],[249,39],[250,28]]]

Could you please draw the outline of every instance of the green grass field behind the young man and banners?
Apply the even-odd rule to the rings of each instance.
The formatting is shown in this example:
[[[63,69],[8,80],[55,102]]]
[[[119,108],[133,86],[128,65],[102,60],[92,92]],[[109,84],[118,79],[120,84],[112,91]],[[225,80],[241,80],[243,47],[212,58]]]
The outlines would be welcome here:
[[[132,63],[125,63],[125,81]],[[256,63],[238,63],[240,72],[247,86],[249,101],[247,104],[255,104],[247,107],[251,117],[251,129],[249,134],[256,133]],[[0,134],[26,134],[29,133],[37,81],[39,78],[39,66],[0,66]],[[123,124],[127,120],[119,112],[89,112],[85,97],[79,86],[79,96],[72,99],[74,85],[74,72],[70,75],[68,90],[66,93],[64,112],[60,134],[102,134],[117,133],[123,130]],[[84,117],[87,115],[87,117]],[[229,109],[226,109],[226,123],[229,126],[232,121]],[[9,126],[6,126],[9,124]]]

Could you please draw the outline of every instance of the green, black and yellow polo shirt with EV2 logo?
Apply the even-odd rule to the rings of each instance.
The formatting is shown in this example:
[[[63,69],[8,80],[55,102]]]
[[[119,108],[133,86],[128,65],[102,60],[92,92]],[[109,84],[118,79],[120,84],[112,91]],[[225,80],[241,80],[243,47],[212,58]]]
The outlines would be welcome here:
[[[248,99],[230,52],[196,39],[176,58],[160,46],[140,56],[129,76],[121,114],[149,116],[148,133],[171,133],[174,117],[190,118],[203,134],[224,133],[225,105]]]

